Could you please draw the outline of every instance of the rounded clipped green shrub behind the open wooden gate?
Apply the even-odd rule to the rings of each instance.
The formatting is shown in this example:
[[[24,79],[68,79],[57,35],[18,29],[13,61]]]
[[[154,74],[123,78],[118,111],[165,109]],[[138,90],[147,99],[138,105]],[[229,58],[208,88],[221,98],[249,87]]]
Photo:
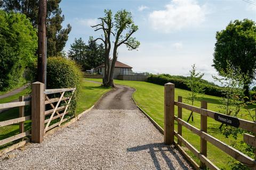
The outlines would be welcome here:
[[[76,88],[69,106],[69,115],[74,115],[81,89],[82,72],[74,61],[63,57],[47,58],[47,89]]]

